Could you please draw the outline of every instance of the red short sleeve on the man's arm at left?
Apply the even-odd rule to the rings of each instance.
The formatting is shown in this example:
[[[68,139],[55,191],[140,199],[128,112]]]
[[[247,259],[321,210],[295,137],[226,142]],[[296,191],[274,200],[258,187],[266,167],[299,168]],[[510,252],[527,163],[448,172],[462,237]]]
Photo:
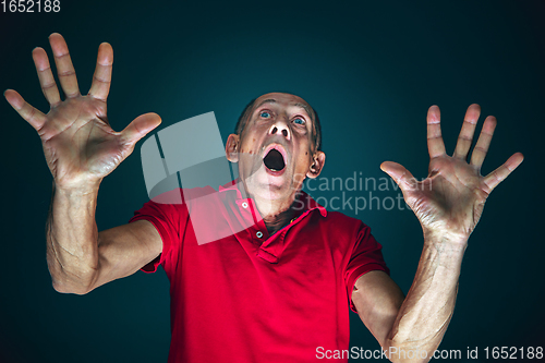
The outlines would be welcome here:
[[[180,190],[172,191],[180,193]],[[171,193],[171,192],[169,192]],[[184,204],[162,204],[149,201],[144,206],[134,213],[134,216],[129,220],[147,220],[155,226],[162,240],[162,252],[157,258],[141,268],[142,271],[152,274],[161,265],[171,259],[174,250],[180,244],[180,230],[182,222],[186,220],[186,206]]]

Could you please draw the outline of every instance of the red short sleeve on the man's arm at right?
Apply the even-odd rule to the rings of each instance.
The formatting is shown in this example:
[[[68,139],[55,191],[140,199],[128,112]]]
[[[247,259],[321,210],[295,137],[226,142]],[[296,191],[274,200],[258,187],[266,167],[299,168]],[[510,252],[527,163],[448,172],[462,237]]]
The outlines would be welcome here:
[[[383,258],[382,250],[383,246],[371,234],[371,228],[362,222],[350,261],[344,271],[344,282],[347,283],[350,308],[354,313],[356,313],[356,310],[352,302],[352,291],[354,290],[355,281],[362,275],[372,270],[382,270],[388,275],[390,274]]]

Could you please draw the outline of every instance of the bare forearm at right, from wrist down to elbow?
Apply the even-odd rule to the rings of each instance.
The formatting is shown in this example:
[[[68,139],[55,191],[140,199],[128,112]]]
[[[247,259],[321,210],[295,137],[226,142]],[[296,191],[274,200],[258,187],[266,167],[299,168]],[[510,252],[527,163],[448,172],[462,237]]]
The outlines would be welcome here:
[[[397,351],[390,356],[393,362],[416,356],[409,351],[419,352],[417,356],[426,351],[427,359],[416,361],[427,361],[439,346],[455,308],[465,242],[425,235],[413,285],[386,340],[385,349]]]

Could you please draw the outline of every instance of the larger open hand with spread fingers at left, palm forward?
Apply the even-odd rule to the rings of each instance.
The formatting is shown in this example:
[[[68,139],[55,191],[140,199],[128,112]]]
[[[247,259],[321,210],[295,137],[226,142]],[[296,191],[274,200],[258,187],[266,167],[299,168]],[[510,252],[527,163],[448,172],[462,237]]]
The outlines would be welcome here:
[[[38,132],[57,187],[98,185],[133,152],[138,140],[159,125],[160,118],[156,113],[146,113],[122,132],[113,131],[106,116],[113,62],[111,46],[102,43],[98,48],[93,84],[89,93],[82,96],[64,38],[53,33],[49,43],[66,99],[60,99],[43,48],[34,49],[33,59],[41,90],[50,105],[49,112],[44,114],[32,107],[13,89],[5,90],[5,99]]]

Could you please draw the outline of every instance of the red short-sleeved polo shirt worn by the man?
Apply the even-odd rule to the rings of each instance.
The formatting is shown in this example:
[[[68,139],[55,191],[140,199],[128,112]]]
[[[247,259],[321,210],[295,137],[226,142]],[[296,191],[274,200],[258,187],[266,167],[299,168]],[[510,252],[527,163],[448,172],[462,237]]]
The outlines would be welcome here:
[[[319,361],[318,347],[349,349],[355,280],[388,273],[370,228],[302,193],[302,214],[269,235],[253,201],[226,186],[191,190],[208,197],[184,204],[148,202],[131,219],[162,238],[161,255],[142,270],[160,264],[170,280],[169,363],[303,363]],[[233,233],[197,243],[192,220]]]

